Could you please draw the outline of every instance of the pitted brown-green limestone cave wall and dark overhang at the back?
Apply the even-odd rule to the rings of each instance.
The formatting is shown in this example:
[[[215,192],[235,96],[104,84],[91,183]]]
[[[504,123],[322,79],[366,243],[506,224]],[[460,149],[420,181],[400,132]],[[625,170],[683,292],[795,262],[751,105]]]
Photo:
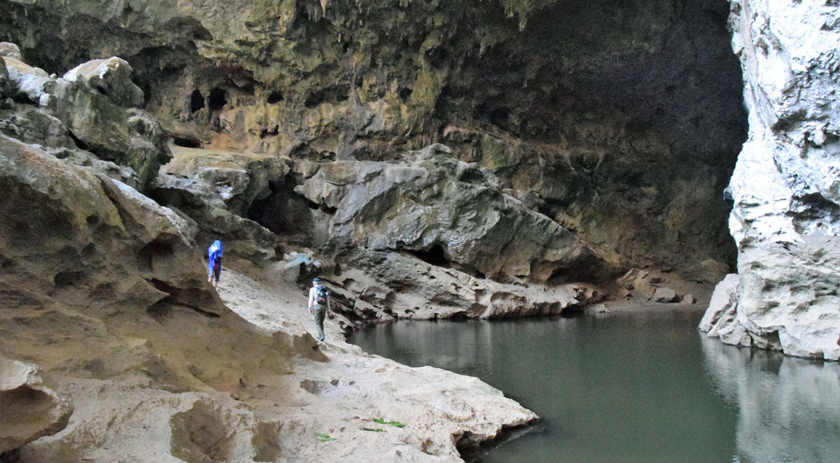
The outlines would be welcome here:
[[[745,127],[723,2],[13,0],[0,14],[0,38],[50,72],[123,57],[186,148],[388,160],[445,143],[612,263],[701,281],[734,263],[721,192]]]

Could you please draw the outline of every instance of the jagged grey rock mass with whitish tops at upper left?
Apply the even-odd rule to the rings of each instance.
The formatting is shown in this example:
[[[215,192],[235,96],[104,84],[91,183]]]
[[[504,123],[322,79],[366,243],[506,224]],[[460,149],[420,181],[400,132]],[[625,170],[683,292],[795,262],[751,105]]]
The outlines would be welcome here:
[[[143,92],[131,81],[131,67],[124,60],[88,61],[62,78],[12,56],[2,60],[11,93],[29,103],[0,117],[3,133],[46,148],[92,153],[62,157],[100,164],[103,172],[113,172],[112,165],[130,168],[133,173],[119,178],[132,179],[141,190],[171,158],[160,124],[138,108]]]

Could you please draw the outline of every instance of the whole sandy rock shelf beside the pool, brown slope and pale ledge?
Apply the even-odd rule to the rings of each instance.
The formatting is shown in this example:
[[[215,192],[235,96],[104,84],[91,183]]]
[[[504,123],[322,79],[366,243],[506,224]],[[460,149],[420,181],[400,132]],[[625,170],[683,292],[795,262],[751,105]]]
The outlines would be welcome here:
[[[108,320],[103,362],[35,349],[75,409],[0,460],[460,461],[459,448],[537,418],[475,377],[371,356],[335,320],[318,343],[291,284],[226,268],[219,293],[235,313]]]

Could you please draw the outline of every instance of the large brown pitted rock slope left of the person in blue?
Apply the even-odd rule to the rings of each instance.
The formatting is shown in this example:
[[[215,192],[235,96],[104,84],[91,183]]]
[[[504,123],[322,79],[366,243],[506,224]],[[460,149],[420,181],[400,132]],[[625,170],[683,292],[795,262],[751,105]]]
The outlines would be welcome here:
[[[212,313],[186,221],[92,169],[0,135],[0,288],[14,305],[172,302]],[[34,205],[37,205],[34,207]],[[192,263],[186,264],[186,263]],[[101,301],[98,302],[97,301]]]

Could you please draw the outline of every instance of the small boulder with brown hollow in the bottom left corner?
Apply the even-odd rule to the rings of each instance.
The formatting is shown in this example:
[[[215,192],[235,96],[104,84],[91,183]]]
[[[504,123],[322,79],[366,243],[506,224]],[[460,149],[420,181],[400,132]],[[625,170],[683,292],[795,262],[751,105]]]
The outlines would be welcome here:
[[[0,454],[55,434],[73,413],[70,398],[47,387],[39,367],[0,357]]]

